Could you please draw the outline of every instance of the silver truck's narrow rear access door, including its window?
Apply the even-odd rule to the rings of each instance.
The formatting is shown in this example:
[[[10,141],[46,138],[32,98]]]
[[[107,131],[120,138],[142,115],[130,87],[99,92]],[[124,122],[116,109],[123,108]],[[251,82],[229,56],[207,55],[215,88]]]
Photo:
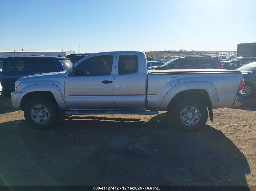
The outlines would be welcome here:
[[[118,53],[114,98],[118,108],[144,108],[147,91],[147,62],[144,54]]]

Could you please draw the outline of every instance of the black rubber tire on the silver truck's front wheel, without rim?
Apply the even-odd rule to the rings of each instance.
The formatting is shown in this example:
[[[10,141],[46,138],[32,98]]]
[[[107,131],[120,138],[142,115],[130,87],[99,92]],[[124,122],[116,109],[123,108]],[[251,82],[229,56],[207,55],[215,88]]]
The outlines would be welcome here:
[[[36,123],[35,120],[32,119],[33,116],[31,113],[32,109],[35,108],[35,105],[41,105],[41,108],[46,108],[46,110],[48,111],[47,120],[45,120],[45,122],[42,119],[42,122]],[[35,111],[37,111],[37,109]],[[24,117],[28,125],[34,129],[50,129],[58,117],[58,108],[56,106],[56,103],[50,101],[49,99],[43,97],[35,98],[28,101],[27,105],[25,106]]]

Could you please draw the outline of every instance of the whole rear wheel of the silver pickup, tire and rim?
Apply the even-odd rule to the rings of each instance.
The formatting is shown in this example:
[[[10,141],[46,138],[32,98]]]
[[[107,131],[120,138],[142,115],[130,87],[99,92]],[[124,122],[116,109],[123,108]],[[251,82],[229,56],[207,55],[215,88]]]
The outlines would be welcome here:
[[[194,100],[184,100],[172,109],[174,123],[187,132],[201,129],[208,119],[208,112],[204,104]]]

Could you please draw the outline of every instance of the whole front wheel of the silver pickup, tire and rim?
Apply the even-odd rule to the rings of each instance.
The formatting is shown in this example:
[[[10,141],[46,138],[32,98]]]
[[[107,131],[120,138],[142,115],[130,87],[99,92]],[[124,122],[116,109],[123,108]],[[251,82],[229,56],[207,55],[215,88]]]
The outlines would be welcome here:
[[[50,129],[57,114],[56,104],[43,97],[30,100],[24,109],[25,120],[34,129]]]

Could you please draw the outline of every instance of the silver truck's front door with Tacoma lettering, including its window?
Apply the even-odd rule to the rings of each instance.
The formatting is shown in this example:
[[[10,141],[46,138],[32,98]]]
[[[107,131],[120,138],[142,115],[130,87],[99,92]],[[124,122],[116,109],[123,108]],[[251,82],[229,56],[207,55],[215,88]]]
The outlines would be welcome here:
[[[116,54],[93,56],[76,65],[77,75],[65,78],[68,108],[114,108]],[[68,72],[69,73],[69,72]]]

